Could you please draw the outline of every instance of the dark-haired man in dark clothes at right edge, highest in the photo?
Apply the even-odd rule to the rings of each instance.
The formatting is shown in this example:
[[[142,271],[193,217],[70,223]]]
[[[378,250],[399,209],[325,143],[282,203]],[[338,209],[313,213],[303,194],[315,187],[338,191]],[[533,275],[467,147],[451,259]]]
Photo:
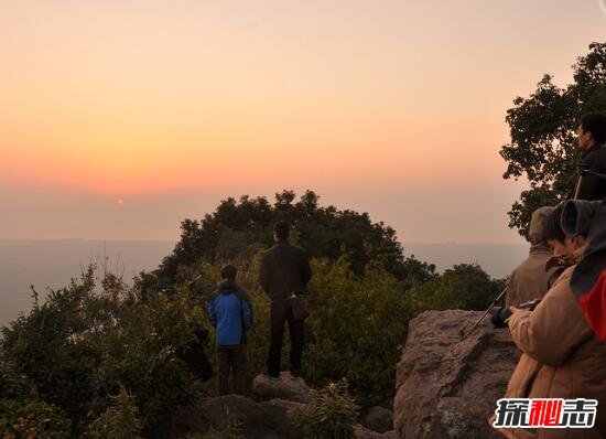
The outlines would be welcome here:
[[[606,197],[606,179],[596,174],[606,174],[606,115],[583,116],[576,135],[584,157],[578,162],[575,199],[602,200]]]

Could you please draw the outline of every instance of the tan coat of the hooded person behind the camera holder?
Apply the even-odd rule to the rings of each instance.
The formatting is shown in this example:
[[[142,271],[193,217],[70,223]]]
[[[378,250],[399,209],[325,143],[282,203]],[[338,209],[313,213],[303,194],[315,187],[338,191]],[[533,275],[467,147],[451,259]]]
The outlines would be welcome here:
[[[507,280],[506,307],[517,307],[545,296],[549,280],[554,272],[554,269],[545,270],[545,264],[551,257],[552,251],[544,244],[537,244],[530,248],[528,257]]]

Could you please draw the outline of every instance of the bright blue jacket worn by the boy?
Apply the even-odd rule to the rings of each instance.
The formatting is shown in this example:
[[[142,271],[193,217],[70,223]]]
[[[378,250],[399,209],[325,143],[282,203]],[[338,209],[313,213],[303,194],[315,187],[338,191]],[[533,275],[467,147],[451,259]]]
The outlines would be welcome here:
[[[234,280],[225,280],[206,304],[208,319],[217,332],[217,344],[246,343],[246,330],[252,326],[252,307],[246,291]]]

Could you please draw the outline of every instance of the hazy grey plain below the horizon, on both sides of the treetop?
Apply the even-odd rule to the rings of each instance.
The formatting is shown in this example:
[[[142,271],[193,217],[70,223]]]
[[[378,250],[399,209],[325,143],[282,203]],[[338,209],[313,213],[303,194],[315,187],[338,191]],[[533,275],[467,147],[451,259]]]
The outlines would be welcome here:
[[[58,289],[90,263],[109,257],[111,272],[123,270],[125,281],[158,267],[172,253],[174,242],[89,239],[0,239],[0,326],[29,312],[33,285],[43,300],[46,287]],[[477,263],[493,278],[508,275],[527,255],[518,244],[405,244],[404,255],[435,264],[439,271],[454,264]]]

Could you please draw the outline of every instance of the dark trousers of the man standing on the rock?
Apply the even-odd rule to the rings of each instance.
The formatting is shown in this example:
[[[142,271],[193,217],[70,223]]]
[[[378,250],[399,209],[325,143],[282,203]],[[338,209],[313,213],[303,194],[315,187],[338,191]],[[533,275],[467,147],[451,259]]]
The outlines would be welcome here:
[[[270,311],[270,346],[268,355],[268,372],[270,375],[280,375],[280,360],[282,357],[282,339],[284,323],[289,323],[291,339],[291,372],[301,373],[301,355],[303,353],[303,335],[305,325],[303,320],[294,320],[289,300],[272,300]]]

